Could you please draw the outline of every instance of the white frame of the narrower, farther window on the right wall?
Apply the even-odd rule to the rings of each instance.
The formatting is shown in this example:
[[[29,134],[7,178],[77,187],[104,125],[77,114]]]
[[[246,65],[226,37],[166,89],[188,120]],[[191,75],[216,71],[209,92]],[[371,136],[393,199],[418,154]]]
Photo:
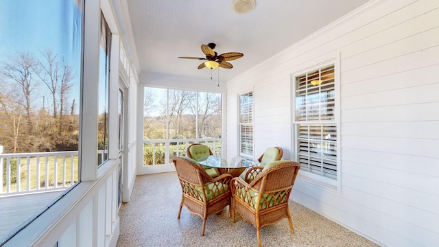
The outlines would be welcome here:
[[[252,121],[250,123],[241,123],[241,96],[244,95],[252,95],[252,111],[251,111],[251,119]],[[244,157],[248,157],[251,159],[254,159],[254,90],[248,90],[245,91],[244,93],[239,93],[239,95],[237,95],[237,101],[238,101],[238,109],[237,109],[237,134],[238,134],[238,143],[237,143],[237,152],[239,154],[239,156],[244,156]],[[248,126],[252,128],[252,143],[251,143],[251,148],[252,148],[252,153],[251,154],[246,154],[244,152],[242,152],[242,127],[243,126]]]

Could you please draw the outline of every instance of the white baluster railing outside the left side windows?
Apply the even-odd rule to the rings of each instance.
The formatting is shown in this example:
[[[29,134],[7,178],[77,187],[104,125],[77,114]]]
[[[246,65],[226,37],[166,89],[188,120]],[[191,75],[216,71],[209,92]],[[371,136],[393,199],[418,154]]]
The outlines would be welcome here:
[[[107,154],[98,151],[101,160]],[[0,153],[0,197],[67,189],[79,180],[78,151]]]

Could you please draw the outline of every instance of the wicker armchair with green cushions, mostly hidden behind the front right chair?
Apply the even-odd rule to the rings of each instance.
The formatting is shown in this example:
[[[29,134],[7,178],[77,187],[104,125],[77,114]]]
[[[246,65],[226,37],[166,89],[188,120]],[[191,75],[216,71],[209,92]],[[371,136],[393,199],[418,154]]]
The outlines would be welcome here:
[[[256,176],[259,174],[259,172],[261,172],[265,165],[268,165],[273,161],[280,161],[282,155],[283,149],[280,147],[267,148],[265,152],[258,158],[259,166],[246,169],[246,171],[241,174],[241,178],[244,179],[247,183],[252,182],[252,180],[256,178]]]

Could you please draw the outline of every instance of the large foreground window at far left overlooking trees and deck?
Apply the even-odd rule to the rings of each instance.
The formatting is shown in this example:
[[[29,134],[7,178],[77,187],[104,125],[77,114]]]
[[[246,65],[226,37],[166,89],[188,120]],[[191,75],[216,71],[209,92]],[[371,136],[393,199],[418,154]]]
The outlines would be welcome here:
[[[82,2],[0,1],[0,246],[80,178]]]

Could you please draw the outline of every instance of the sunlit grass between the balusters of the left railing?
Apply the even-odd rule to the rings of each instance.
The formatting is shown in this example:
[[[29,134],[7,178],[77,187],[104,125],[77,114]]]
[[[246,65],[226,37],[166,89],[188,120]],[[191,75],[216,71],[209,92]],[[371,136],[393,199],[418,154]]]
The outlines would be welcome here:
[[[47,159],[47,161],[46,161]],[[69,185],[72,181],[71,176],[71,156],[66,156],[65,163],[65,183],[66,185]],[[14,159],[11,159],[14,160]],[[16,159],[15,159],[16,160]],[[18,161],[17,161],[18,162]],[[64,177],[64,161],[63,156],[57,156],[56,158],[56,174],[55,174],[55,156],[41,156],[40,160],[40,169],[39,169],[39,176],[40,176],[40,188],[45,188],[46,181],[48,180],[49,184],[47,185],[48,188],[53,188],[56,178],[56,183],[58,183],[58,187],[62,187],[63,177]],[[48,178],[46,178],[46,163],[47,163],[47,172],[48,172]],[[29,172],[30,174],[27,174],[27,159],[21,158],[20,160],[20,172],[21,172],[21,180],[20,180],[20,191],[27,191],[27,190],[33,190],[37,188],[37,170],[38,170],[38,159],[36,157],[29,158]],[[14,176],[16,174],[11,174],[11,176]],[[6,176],[6,174],[3,174],[3,176]],[[76,183],[78,181],[78,154],[73,155],[73,183]],[[29,189],[27,189],[29,182]],[[10,191],[15,192],[17,189],[17,184],[12,183],[10,185]],[[6,191],[6,185],[3,183],[3,192]]]

